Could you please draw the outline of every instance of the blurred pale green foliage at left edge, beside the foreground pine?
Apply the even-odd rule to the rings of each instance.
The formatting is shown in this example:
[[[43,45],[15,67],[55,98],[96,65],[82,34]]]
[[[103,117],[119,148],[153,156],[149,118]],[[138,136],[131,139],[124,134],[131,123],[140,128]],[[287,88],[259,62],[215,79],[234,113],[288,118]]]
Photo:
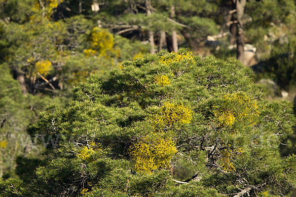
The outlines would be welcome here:
[[[0,70],[0,177],[11,177],[15,175],[16,157],[34,158],[41,151],[42,147],[31,143],[25,128],[53,100],[48,97],[40,99],[38,95],[24,96],[7,64],[0,65]],[[62,103],[59,99],[55,100]]]

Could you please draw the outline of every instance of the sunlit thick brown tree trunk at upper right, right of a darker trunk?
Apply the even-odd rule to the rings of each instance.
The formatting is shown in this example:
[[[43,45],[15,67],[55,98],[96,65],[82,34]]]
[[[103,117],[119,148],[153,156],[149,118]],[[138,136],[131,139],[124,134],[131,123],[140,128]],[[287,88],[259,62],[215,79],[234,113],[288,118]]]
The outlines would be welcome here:
[[[242,63],[245,61],[245,40],[244,40],[244,31],[243,31],[243,21],[242,17],[244,15],[244,9],[247,0],[235,0],[236,5],[236,15],[237,15],[237,26],[236,26],[236,52],[237,59]]]

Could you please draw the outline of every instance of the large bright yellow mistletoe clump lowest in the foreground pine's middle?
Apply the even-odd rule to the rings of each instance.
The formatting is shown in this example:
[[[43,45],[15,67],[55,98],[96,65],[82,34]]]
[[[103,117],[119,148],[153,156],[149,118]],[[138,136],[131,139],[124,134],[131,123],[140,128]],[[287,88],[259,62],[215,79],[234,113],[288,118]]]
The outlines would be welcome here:
[[[131,146],[130,155],[135,162],[135,170],[151,173],[160,167],[169,167],[176,154],[175,143],[168,138],[152,133]]]

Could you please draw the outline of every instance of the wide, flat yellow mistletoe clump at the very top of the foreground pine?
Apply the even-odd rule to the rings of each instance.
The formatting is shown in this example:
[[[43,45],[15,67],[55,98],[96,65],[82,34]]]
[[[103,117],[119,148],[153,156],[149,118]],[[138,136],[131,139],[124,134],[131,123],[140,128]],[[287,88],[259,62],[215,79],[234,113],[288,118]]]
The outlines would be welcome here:
[[[161,56],[159,59],[159,62],[162,64],[165,64],[165,65],[171,65],[172,63],[183,62],[183,61],[187,61],[190,64],[195,63],[194,56],[193,56],[192,52],[187,52],[186,54],[171,52],[171,55],[172,55],[171,58],[166,58],[164,56]]]

